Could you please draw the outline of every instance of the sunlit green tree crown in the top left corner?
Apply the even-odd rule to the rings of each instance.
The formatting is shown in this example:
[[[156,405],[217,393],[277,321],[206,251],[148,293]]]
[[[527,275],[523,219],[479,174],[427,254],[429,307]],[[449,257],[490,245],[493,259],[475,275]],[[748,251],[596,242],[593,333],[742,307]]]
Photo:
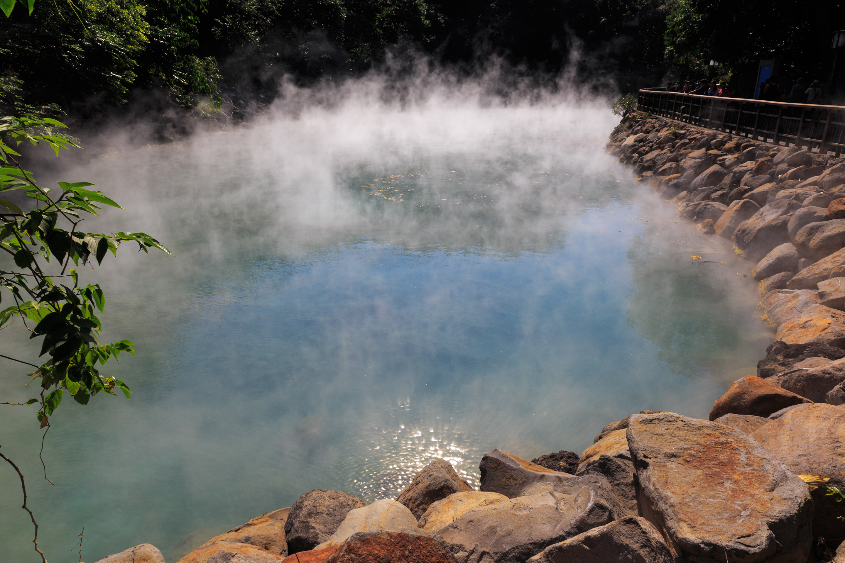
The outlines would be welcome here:
[[[59,103],[104,95],[125,100],[137,59],[148,43],[144,7],[134,0],[39,2],[17,9],[0,26],[6,73],[23,80],[30,103]]]

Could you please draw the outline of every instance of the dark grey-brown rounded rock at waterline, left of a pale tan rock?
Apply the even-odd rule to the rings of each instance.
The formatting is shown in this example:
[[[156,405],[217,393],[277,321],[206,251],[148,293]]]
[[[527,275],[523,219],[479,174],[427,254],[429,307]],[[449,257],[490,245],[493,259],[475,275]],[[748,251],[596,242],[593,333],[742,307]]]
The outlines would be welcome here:
[[[287,552],[294,554],[322,544],[349,511],[363,506],[367,503],[340,490],[314,489],[300,496],[285,522]]]

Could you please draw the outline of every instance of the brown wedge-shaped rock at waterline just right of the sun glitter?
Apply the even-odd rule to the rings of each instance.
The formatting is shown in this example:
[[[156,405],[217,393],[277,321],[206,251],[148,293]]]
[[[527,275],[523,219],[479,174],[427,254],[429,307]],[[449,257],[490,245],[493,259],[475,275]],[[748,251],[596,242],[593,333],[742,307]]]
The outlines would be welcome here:
[[[484,454],[478,468],[481,469],[481,490],[508,498],[519,495],[524,487],[538,481],[560,482],[572,479],[570,474],[544,468],[499,448]]]

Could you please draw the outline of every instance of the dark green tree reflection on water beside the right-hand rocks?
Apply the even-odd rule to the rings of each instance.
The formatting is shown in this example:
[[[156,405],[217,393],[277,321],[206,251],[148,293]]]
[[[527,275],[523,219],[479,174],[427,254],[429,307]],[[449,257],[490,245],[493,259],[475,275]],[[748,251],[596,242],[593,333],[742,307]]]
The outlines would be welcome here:
[[[717,244],[695,252],[685,246],[631,239],[628,324],[657,346],[658,359],[673,373],[736,379],[731,372],[756,365],[771,344],[755,314],[754,288],[729,278],[748,264]],[[697,263],[691,254],[725,263]]]

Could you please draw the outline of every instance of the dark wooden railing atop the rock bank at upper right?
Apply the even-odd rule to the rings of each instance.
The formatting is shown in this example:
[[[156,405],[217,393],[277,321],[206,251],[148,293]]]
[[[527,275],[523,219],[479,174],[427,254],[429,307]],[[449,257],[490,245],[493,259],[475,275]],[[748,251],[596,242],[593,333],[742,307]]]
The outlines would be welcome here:
[[[698,127],[820,153],[845,148],[845,106],[717,98],[641,89],[637,109]]]

